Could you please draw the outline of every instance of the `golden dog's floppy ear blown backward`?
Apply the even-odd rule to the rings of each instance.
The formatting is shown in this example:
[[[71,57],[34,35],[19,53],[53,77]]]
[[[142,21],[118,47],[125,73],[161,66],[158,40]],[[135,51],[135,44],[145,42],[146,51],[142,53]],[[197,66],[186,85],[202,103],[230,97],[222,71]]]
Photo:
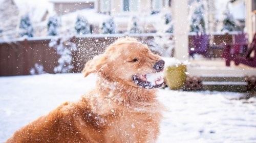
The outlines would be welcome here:
[[[84,77],[87,77],[90,73],[96,73],[102,70],[106,64],[106,56],[103,54],[95,56],[92,60],[88,61],[82,70]]]

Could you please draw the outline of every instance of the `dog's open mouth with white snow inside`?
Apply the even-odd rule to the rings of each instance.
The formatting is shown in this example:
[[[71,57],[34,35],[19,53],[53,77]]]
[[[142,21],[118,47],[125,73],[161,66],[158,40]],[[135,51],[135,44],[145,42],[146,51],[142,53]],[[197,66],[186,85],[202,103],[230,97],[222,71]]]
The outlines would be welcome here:
[[[133,75],[133,81],[142,88],[153,89],[163,85],[163,70],[156,73]]]

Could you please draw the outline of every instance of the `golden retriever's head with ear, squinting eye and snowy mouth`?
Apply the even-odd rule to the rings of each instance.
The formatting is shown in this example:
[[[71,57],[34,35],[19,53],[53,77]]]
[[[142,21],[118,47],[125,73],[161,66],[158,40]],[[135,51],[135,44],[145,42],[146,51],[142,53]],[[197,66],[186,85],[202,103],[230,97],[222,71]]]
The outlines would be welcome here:
[[[135,39],[124,38],[111,44],[103,54],[86,63],[82,73],[98,73],[102,78],[142,87],[159,88],[163,84],[164,61]]]

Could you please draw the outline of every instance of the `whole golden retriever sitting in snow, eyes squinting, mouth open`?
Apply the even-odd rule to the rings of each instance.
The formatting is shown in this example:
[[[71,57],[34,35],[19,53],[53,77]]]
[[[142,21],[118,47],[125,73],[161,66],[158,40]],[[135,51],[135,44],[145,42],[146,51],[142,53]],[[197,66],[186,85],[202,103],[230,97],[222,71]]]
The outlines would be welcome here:
[[[135,39],[122,38],[88,61],[92,91],[16,131],[7,142],[156,142],[164,61]]]

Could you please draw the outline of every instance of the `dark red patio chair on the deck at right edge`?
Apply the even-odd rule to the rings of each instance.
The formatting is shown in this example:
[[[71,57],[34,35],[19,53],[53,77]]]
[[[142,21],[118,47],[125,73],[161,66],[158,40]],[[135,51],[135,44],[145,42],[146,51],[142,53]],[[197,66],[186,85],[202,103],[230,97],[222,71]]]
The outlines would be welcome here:
[[[242,53],[241,47],[243,48]],[[254,56],[251,57],[250,55],[253,50]],[[253,40],[249,45],[245,43],[235,43],[232,45],[227,44],[222,56],[226,61],[226,66],[230,66],[230,61],[234,61],[235,65],[244,64],[250,67],[256,67],[256,33],[254,34]]]

